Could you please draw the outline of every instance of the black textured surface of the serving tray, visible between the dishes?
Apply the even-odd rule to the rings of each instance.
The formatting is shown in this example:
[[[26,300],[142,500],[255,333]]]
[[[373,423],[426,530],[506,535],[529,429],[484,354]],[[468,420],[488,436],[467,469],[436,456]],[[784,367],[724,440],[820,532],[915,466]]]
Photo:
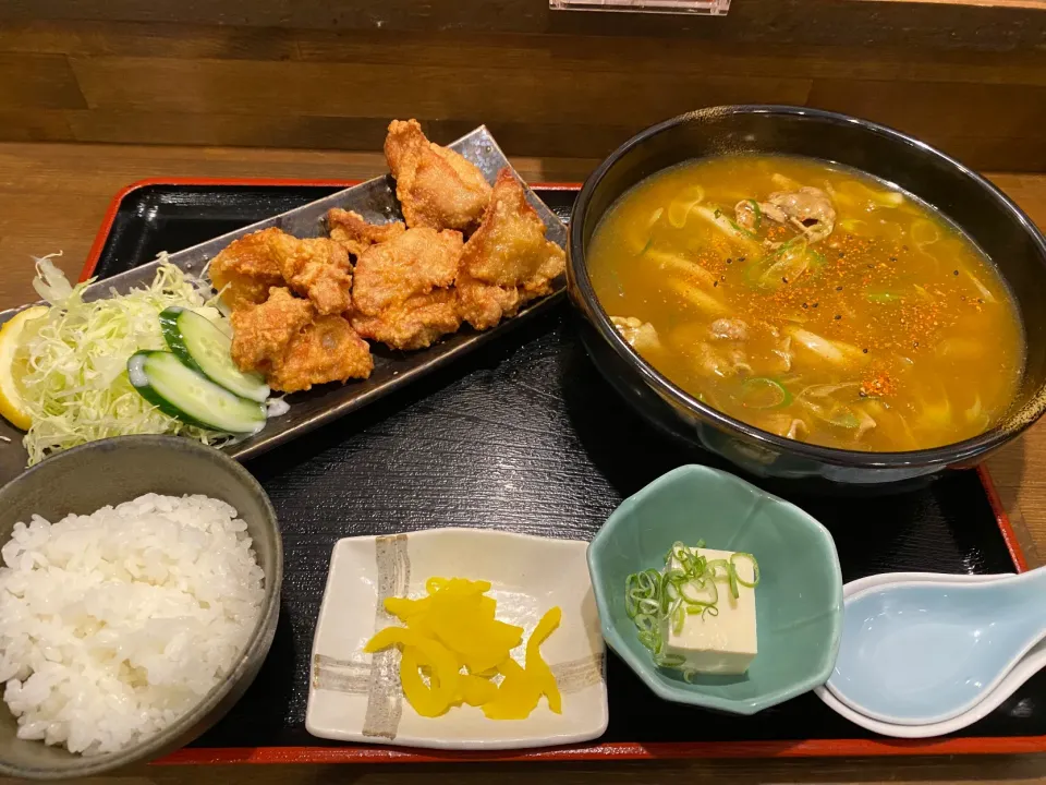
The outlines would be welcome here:
[[[313,188],[150,186],[132,193],[99,262],[111,274],[324,195]],[[538,191],[563,215],[570,192]],[[280,625],[254,686],[195,747],[327,746],[304,727],[308,656],[333,543],[473,526],[588,540],[618,503],[688,462],[607,384],[565,303],[409,388],[247,462],[283,532]],[[1005,572],[1013,565],[974,472],[860,503],[756,481],[822,520],[843,578],[888,570]],[[754,717],[664,703],[611,655],[604,741],[869,738],[813,696]],[[1046,674],[963,736],[1046,735]]]

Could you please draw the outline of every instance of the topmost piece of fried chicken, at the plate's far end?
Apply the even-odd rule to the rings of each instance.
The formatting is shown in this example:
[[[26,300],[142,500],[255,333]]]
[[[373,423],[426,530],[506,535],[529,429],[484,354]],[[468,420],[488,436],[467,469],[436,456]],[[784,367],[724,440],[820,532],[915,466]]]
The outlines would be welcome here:
[[[416,120],[393,120],[385,158],[411,228],[455,229],[467,234],[490,201],[483,172],[458,153],[429,142]]]

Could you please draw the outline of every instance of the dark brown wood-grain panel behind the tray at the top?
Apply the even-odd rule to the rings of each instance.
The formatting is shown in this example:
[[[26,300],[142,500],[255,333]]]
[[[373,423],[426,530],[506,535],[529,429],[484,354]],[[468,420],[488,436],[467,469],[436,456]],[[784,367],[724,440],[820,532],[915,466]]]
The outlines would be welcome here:
[[[390,118],[416,117],[443,138],[485,122],[510,155],[598,159],[682,111],[776,102],[877,120],[975,168],[1046,169],[1046,11],[734,7],[7,0],[0,141],[373,150]]]

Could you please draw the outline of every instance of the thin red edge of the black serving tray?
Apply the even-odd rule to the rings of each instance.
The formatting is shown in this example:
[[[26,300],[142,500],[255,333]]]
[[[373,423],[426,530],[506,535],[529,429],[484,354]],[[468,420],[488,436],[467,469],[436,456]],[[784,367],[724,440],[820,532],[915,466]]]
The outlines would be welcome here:
[[[120,205],[127,195],[149,185],[320,185],[351,188],[361,180],[295,180],[281,178],[177,178],[157,177],[138,180],[121,189],[109,203],[87,259],[80,274],[86,280],[98,265],[101,250],[112,229]],[[581,183],[531,183],[545,191],[579,191]],[[988,504],[995,515],[1018,572],[1029,565],[1010,517],[1007,515],[985,464],[977,467]],[[186,747],[157,761],[154,765],[216,765],[230,763],[467,763],[512,761],[613,761],[613,760],[685,760],[714,758],[846,758],[887,756],[944,754],[1027,754],[1046,752],[1046,736],[1010,736],[926,739],[806,739],[801,741],[729,741],[729,742],[610,742],[591,747],[555,747],[522,752],[437,752],[409,751],[391,747]]]

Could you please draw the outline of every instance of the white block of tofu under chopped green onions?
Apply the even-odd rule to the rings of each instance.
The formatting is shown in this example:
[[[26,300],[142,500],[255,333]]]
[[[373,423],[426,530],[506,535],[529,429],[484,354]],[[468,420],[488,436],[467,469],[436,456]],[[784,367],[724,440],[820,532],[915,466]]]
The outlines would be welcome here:
[[[709,561],[727,559],[733,555],[730,551],[714,551],[711,548],[692,548]],[[734,561],[738,577],[749,583],[753,582],[754,570],[751,559],[739,558]],[[673,558],[666,569],[676,569],[679,563]],[[666,619],[664,630],[665,648],[662,653],[668,656],[683,657],[685,661],[679,667],[684,671],[695,671],[705,674],[743,674],[749,664],[755,659],[755,589],[739,587],[738,596],[730,594],[730,584],[726,580],[717,580],[718,616],[711,614],[688,614],[683,628],[679,635],[672,630],[672,624]],[[710,592],[701,591],[692,584],[688,591],[692,597],[703,594],[710,600]]]

